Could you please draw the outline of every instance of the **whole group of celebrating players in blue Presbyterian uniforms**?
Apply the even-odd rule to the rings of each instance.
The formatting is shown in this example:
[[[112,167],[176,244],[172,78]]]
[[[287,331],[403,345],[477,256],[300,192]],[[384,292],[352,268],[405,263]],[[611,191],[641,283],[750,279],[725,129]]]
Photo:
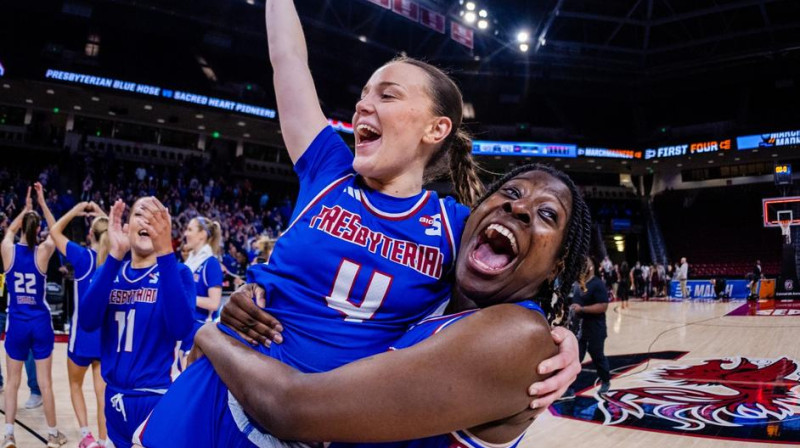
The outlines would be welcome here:
[[[589,246],[588,207],[569,177],[527,165],[484,191],[458,87],[408,58],[364,87],[354,156],[322,113],[293,3],[266,8],[281,130],[300,182],[271,258],[248,270],[214,319],[218,224],[192,219],[180,260],[158,199],[118,200],[108,216],[80,203],[56,221],[36,184],[48,239],[36,241],[29,191],[2,245],[12,283],[3,447],[15,446],[30,351],[48,446],[66,443],[44,300],[43,266],[56,249],[76,271],[70,380],[92,366],[104,384],[95,388],[99,440],[85,404],[75,407],[81,447],[513,447],[580,370],[575,337],[551,328],[564,322]],[[457,199],[423,188],[445,173]],[[64,236],[78,216],[94,218],[89,248]],[[186,367],[173,381],[178,341]]]

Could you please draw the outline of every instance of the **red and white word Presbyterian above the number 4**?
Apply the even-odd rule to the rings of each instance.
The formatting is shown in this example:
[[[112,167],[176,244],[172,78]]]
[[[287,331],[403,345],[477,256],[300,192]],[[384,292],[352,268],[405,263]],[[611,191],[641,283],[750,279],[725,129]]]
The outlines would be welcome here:
[[[309,227],[366,247],[373,254],[380,253],[383,258],[407,266],[422,275],[435,279],[442,277],[444,255],[438,247],[397,240],[381,232],[375,232],[361,225],[361,215],[345,210],[338,205],[323,206],[319,214],[311,218]]]

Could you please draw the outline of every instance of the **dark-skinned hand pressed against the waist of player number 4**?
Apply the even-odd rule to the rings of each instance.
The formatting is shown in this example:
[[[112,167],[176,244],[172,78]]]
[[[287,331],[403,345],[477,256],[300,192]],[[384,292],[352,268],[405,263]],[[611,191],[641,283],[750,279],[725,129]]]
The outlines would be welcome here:
[[[260,302],[263,306],[264,294],[263,288],[248,283],[231,295],[220,313],[220,321],[251,345],[283,342],[281,323],[256,304]]]

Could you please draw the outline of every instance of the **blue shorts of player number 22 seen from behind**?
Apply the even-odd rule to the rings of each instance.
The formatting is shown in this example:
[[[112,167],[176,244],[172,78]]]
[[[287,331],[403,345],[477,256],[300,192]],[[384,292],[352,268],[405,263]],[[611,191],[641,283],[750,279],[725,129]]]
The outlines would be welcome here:
[[[25,361],[33,350],[33,359],[47,359],[53,354],[55,333],[50,315],[31,320],[8,316],[6,323],[6,353],[15,361]]]

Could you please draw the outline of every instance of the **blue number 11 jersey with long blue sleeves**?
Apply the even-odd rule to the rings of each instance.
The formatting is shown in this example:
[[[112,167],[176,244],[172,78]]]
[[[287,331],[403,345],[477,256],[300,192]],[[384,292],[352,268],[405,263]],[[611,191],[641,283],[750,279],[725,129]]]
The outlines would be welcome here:
[[[177,340],[192,329],[195,303],[192,272],[174,255],[134,269],[111,256],[85,298],[79,322],[101,329],[103,378],[116,390],[164,390]]]

